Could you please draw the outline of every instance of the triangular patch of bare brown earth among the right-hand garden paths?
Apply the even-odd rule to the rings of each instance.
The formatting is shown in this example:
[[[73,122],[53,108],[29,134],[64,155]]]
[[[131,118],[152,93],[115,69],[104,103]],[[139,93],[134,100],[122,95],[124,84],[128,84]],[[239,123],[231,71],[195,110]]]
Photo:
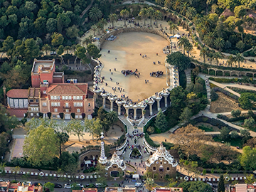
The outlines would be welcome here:
[[[231,112],[232,110],[242,110],[242,108],[238,107],[238,103],[235,102],[230,97],[227,97],[222,92],[217,92],[219,97],[218,100],[214,102],[210,102],[210,112],[218,113],[218,112]]]

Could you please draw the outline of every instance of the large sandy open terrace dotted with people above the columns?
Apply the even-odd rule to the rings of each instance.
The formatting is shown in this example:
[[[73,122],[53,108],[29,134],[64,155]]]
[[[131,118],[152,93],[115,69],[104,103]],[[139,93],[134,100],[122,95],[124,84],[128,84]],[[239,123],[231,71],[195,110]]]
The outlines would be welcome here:
[[[100,87],[104,87],[107,92],[112,92],[114,95],[124,94],[129,96],[134,102],[163,90],[167,85],[164,65],[166,54],[162,50],[168,45],[168,41],[161,36],[138,32],[121,33],[115,41],[106,41],[102,46],[102,57],[100,58],[105,65],[101,72],[105,81],[100,84]],[[108,50],[110,50],[110,53],[107,53]],[[142,58],[140,53],[142,55],[146,54],[146,58]],[[158,64],[158,61],[161,64]],[[116,68],[116,71],[114,71],[114,68]],[[140,73],[139,78],[134,75],[124,76],[121,73],[121,70],[136,69]],[[164,75],[158,78],[149,75],[149,73],[157,70],[164,71]],[[110,78],[112,78],[112,81]],[[149,80],[149,83],[145,83],[145,80]],[[105,85],[106,82],[107,86]],[[116,82],[119,82],[119,85]],[[112,87],[121,87],[124,92],[119,90],[114,92]]]

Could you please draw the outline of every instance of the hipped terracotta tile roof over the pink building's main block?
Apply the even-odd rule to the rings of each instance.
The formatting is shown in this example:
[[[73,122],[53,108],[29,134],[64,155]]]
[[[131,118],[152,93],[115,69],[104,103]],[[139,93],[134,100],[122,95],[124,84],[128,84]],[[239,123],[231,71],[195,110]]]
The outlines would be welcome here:
[[[87,83],[61,83],[49,85],[47,91],[48,94],[53,95],[86,95]]]

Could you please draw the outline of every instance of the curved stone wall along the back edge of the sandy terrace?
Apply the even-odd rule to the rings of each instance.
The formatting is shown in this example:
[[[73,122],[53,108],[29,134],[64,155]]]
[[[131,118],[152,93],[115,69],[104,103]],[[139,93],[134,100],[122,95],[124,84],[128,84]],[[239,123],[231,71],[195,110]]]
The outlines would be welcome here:
[[[128,28],[118,28],[116,30],[110,31],[110,33],[106,33],[105,35],[100,37],[99,40],[99,48],[102,48],[102,45],[105,43],[106,38],[109,38],[110,36],[117,36],[120,33],[128,33],[128,32],[143,32],[143,33],[153,33],[156,35],[159,35],[163,38],[165,38],[170,43],[170,39],[164,32],[162,32],[160,29],[151,29],[151,28],[144,28],[144,27],[128,27]]]

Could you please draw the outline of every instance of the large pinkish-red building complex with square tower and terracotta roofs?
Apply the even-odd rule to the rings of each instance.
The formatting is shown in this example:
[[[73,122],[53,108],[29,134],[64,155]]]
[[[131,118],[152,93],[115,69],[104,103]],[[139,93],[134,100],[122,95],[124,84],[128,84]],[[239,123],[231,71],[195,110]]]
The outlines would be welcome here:
[[[22,109],[21,117],[51,117],[53,119],[91,119],[95,94],[87,83],[64,83],[64,73],[55,72],[55,60],[34,60],[28,90],[7,92],[8,110]],[[18,117],[18,115],[16,115]]]

